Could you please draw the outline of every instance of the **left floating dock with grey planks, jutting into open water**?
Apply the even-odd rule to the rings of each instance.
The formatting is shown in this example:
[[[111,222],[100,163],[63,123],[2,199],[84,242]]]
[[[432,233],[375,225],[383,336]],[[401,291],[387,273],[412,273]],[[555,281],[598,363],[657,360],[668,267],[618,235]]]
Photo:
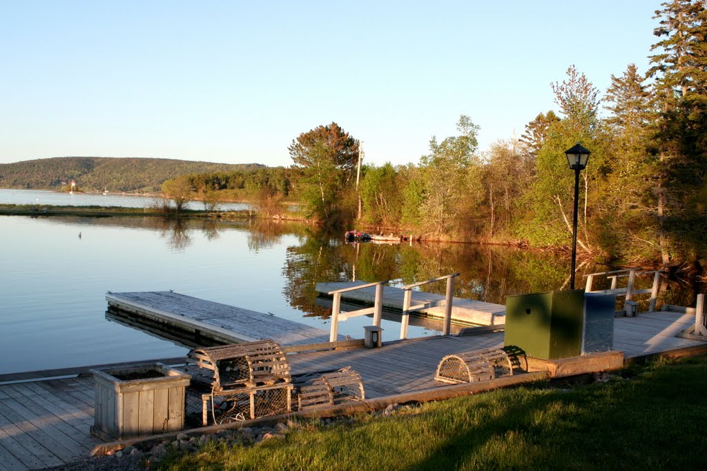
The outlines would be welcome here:
[[[329,340],[329,333],[320,328],[171,291],[108,292],[105,299],[109,311],[122,311],[156,323],[163,330],[178,330],[221,343],[271,339],[280,345],[301,345]]]

